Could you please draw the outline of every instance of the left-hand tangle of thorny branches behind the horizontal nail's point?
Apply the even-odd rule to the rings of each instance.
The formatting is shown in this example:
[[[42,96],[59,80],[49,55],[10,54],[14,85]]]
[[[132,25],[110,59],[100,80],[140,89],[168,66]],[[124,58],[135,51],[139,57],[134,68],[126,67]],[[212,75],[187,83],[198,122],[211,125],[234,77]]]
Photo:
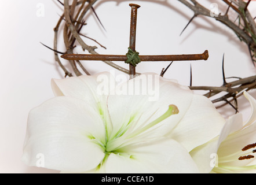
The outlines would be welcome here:
[[[58,1],[58,0],[57,0]],[[72,4],[70,5],[70,1],[64,0],[64,2],[58,1],[63,5],[64,13],[58,20],[58,23],[56,27],[54,28],[54,50],[57,51],[57,38],[58,38],[58,31],[60,28],[60,25],[62,21],[65,21],[64,29],[63,29],[63,39],[65,43],[66,50],[65,53],[72,54],[74,50],[74,43],[77,41],[79,45],[81,45],[82,49],[85,51],[89,51],[90,54],[98,54],[95,49],[97,49],[96,46],[89,46],[85,43],[85,41],[81,38],[81,36],[89,38],[83,34],[80,33],[83,25],[85,25],[85,22],[83,21],[83,18],[85,17],[85,14],[88,12],[88,10],[92,9],[93,12],[96,14],[95,10],[93,9],[93,5],[97,0],[74,0],[72,1]],[[98,16],[96,15],[98,18]],[[100,22],[101,24],[101,22]],[[102,24],[101,24],[102,25]],[[96,42],[98,45],[100,45],[95,39],[89,38]],[[104,47],[100,45],[101,47]],[[105,48],[105,47],[104,47]],[[57,61],[58,65],[61,66],[63,71],[65,72],[66,76],[73,76],[72,72],[69,72],[65,66],[61,63],[60,58],[58,57],[58,52],[54,52],[55,54],[55,60]],[[77,68],[77,64],[80,66],[80,68],[83,70],[84,73],[89,75],[89,72],[86,70],[86,68],[81,64],[80,61],[69,61],[70,65],[72,66],[72,71],[74,71],[76,76],[82,75],[82,72],[79,71]],[[129,71],[125,68],[120,67],[119,65],[114,64],[111,61],[103,61],[106,64],[114,67],[115,69],[118,69],[119,71],[129,73]]]

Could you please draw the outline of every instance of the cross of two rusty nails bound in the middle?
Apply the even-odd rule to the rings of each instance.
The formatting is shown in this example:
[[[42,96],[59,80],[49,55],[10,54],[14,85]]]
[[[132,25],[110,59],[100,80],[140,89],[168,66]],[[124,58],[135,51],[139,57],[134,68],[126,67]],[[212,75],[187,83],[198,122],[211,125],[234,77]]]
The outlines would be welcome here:
[[[131,6],[131,25],[130,25],[130,49],[135,50],[136,43],[136,24],[137,9],[140,5],[130,4]],[[126,61],[127,56],[120,55],[102,55],[102,54],[63,54],[61,56],[66,60],[94,60],[94,61]],[[141,61],[188,61],[188,60],[207,60],[208,51],[202,54],[181,54],[181,55],[162,55],[162,56],[140,56]],[[130,65],[130,77],[136,75],[135,66]]]

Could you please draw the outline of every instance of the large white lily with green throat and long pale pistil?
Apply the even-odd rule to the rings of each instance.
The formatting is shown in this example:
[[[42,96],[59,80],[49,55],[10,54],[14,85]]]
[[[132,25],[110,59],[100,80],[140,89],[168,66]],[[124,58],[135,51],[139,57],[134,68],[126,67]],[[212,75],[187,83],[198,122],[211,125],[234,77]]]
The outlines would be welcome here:
[[[116,93],[134,84],[142,92],[152,75],[159,99]],[[99,79],[107,80],[107,94],[98,91]],[[36,166],[42,154],[45,168],[64,172],[199,172],[188,151],[218,136],[225,123],[210,100],[151,73],[119,86],[112,80],[109,73],[52,80],[56,97],[28,116],[25,164]]]

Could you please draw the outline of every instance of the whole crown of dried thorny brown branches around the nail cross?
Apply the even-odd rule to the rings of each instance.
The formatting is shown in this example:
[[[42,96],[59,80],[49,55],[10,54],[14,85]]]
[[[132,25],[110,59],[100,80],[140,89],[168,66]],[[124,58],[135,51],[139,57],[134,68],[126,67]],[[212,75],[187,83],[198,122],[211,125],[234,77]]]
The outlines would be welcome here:
[[[86,13],[92,9],[92,12],[96,15],[97,20],[99,21],[100,25],[105,30],[103,24],[100,21],[100,18],[96,14],[96,10],[93,8],[94,3],[97,2],[97,0],[63,0],[61,2],[60,0],[57,0],[64,8],[63,14],[60,16],[58,23],[56,24],[56,27],[54,28],[54,48],[52,49],[54,51],[55,60],[60,65],[61,69],[63,69],[66,76],[80,76],[83,73],[86,75],[90,75],[90,73],[86,70],[85,66],[81,64],[80,61],[69,61],[70,65],[72,66],[72,72],[68,71],[68,69],[65,68],[65,66],[61,63],[60,58],[58,57],[58,53],[62,53],[58,51],[57,49],[57,43],[58,43],[58,34],[60,31],[60,28],[63,28],[63,40],[65,43],[66,51],[64,53],[72,54],[74,50],[75,42],[78,42],[78,44],[82,47],[82,49],[85,51],[87,50],[90,54],[98,54],[95,50],[97,49],[96,46],[89,46],[86,44],[86,42],[82,38],[89,38],[83,34],[81,34],[81,29],[83,28],[85,23],[85,15]],[[214,18],[217,21],[220,21],[222,24],[224,24],[226,27],[229,27],[232,29],[237,37],[246,45],[248,46],[248,50],[250,51],[250,57],[253,61],[253,64],[255,65],[256,62],[256,23],[255,18],[253,17],[250,12],[248,11],[248,6],[250,6],[251,1],[244,2],[242,0],[222,0],[222,4],[225,5],[226,11],[223,14],[215,14],[212,10],[207,9],[203,5],[201,5],[196,0],[178,0],[182,4],[184,4],[186,7],[191,9],[193,11],[193,16],[189,20],[186,27],[182,30],[181,34],[185,31],[186,28],[188,28],[188,25],[195,20],[198,16],[205,16]],[[156,3],[158,3],[156,1]],[[236,19],[232,20],[232,17],[236,14]],[[254,15],[255,16],[255,15]],[[64,27],[61,27],[61,24],[64,24]],[[82,37],[81,37],[82,36]],[[98,43],[95,39],[89,38]],[[101,47],[104,47],[100,45]],[[104,47],[105,48],[105,47]],[[129,70],[120,67],[119,65],[114,64],[111,61],[103,61],[105,64],[108,64],[112,66],[115,69],[118,69],[119,71],[122,71],[124,73],[129,74]],[[79,68],[77,67],[79,66]],[[171,65],[171,64],[170,64]],[[166,73],[167,69],[170,67],[167,66],[166,69],[163,69],[160,73],[161,76]],[[80,71],[82,69],[82,71]],[[192,70],[192,69],[191,69]],[[190,88],[191,90],[204,90],[208,91],[206,94],[204,94],[208,98],[214,98],[215,96],[218,96],[219,94],[224,93],[224,95],[220,95],[220,97],[213,99],[213,103],[222,102],[221,105],[217,105],[217,108],[220,108],[225,105],[231,105],[232,108],[238,111],[238,105],[237,105],[237,98],[242,95],[243,91],[248,91],[253,88],[256,88],[256,76],[246,77],[244,79],[235,80],[233,82],[226,82],[226,79],[228,77],[225,77],[224,73],[224,58],[223,58],[223,65],[222,65],[222,73],[223,73],[223,84],[220,87],[209,87],[209,86],[192,86],[192,71],[191,71],[191,84]],[[139,73],[138,73],[139,74]],[[234,102],[234,103],[233,103]]]

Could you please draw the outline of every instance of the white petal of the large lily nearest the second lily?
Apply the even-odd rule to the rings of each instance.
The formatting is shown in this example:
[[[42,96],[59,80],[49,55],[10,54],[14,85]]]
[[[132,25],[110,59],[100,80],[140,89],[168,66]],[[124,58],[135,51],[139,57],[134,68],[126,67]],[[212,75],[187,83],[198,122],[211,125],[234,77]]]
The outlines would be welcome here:
[[[194,94],[185,116],[169,136],[191,151],[218,136],[225,122],[209,98]]]

